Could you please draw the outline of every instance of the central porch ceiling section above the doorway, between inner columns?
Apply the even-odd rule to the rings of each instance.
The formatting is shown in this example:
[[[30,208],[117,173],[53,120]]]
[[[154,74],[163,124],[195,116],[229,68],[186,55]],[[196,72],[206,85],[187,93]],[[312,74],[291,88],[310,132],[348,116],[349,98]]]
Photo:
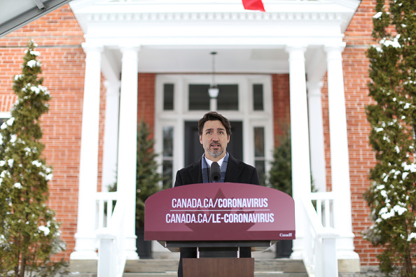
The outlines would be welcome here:
[[[211,52],[217,52],[216,73],[289,72],[289,56],[282,49],[224,48],[219,45],[193,49],[143,46],[139,52],[139,72],[210,73]]]

